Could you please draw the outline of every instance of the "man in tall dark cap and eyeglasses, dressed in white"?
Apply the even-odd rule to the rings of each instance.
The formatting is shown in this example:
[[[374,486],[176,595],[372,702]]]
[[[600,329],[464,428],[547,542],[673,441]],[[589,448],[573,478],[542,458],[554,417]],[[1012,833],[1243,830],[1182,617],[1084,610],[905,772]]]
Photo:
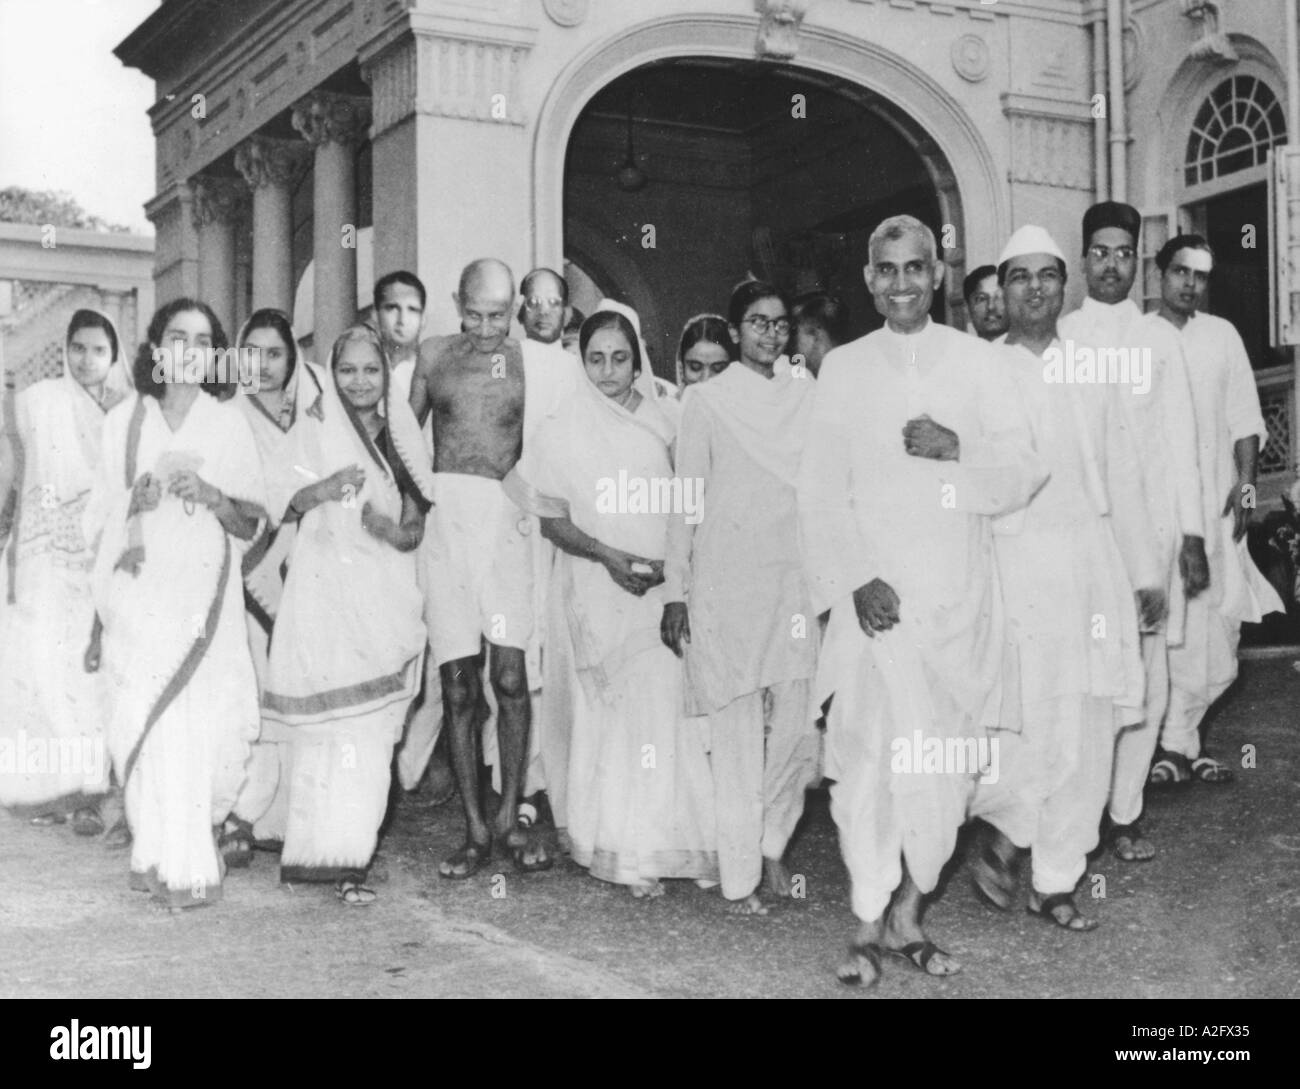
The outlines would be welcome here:
[[[1201,513],[1196,415],[1176,330],[1143,314],[1128,298],[1138,274],[1138,209],[1108,200],[1083,217],[1083,270],[1088,298],[1061,318],[1066,381],[1112,382],[1138,444],[1147,516],[1165,573],[1169,616],[1141,633],[1147,676],[1144,715],[1115,739],[1106,838],[1122,862],[1147,862],[1154,845],[1143,834],[1143,788],[1169,707],[1169,652],[1183,643],[1187,600],[1209,585]]]

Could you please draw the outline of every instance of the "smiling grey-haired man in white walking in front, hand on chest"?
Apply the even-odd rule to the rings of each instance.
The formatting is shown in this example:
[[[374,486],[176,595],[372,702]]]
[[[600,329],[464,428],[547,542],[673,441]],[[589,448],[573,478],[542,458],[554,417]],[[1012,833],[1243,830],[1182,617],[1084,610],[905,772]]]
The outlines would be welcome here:
[[[944,275],[930,229],[885,220],[868,252],[887,326],[826,356],[798,503],[812,607],[831,609],[815,704],[833,693],[826,772],[859,920],[838,976],[870,985],[881,953],[933,976],[959,968],[923,933],[922,901],[996,716],[989,522],[1046,472],[992,350],[930,320]]]

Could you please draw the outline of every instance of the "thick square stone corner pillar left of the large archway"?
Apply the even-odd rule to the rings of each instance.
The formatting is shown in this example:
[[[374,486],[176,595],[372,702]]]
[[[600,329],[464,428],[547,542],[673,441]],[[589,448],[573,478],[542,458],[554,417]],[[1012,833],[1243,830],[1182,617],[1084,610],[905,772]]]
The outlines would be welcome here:
[[[467,261],[499,257],[516,281],[530,268],[520,74],[536,40],[536,27],[410,10],[358,53],[374,113],[374,274],[424,281],[428,334],[456,331]]]

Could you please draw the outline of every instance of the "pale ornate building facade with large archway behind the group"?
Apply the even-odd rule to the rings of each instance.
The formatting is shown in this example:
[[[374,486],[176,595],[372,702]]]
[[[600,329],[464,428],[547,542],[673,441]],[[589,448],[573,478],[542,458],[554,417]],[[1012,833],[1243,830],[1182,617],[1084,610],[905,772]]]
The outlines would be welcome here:
[[[1135,296],[1179,229],[1218,252],[1295,478],[1295,0],[164,0],[118,48],[156,81],[155,285],[328,344],[374,274],[416,272],[429,331],[460,268],[563,268],[642,316],[655,368],[748,273],[832,287],[858,327],[887,214],[966,269],[1010,231],[1080,252],[1097,199],[1143,211]],[[1295,139],[1291,140],[1296,143]],[[1082,296],[1082,277],[1070,301]],[[318,352],[318,348],[317,348]]]

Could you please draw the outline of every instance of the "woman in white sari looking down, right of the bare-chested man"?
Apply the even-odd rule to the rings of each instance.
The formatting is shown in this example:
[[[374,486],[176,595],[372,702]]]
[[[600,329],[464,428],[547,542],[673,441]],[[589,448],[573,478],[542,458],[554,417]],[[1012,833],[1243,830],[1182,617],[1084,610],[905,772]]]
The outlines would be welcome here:
[[[681,665],[659,639],[668,515],[618,494],[620,478],[671,482],[673,429],[663,399],[637,389],[641,352],[621,313],[588,318],[580,348],[589,381],[540,425],[504,487],[559,548],[546,646],[563,643],[550,659],[571,676],[547,674],[543,691],[568,693],[572,730],[556,824],[592,876],[653,897],[664,877],[718,878],[706,738],[682,715]]]

